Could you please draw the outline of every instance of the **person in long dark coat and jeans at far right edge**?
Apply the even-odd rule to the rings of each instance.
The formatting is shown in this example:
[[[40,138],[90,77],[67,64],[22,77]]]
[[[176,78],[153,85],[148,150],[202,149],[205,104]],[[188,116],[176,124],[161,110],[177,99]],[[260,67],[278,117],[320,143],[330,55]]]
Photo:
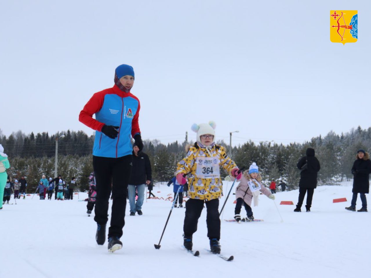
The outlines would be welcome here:
[[[355,203],[357,202],[357,195],[361,197],[362,208],[358,209],[359,212],[367,212],[367,200],[365,193],[368,193],[370,189],[370,173],[371,173],[371,160],[370,154],[364,150],[358,150],[355,156],[355,161],[352,167],[353,179],[353,197],[351,206],[347,209],[348,211],[355,211]]]

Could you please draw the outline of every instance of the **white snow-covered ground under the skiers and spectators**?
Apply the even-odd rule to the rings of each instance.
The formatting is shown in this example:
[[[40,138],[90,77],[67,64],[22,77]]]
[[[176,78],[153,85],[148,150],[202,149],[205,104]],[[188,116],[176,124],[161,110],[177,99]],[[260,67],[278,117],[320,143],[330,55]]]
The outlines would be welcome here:
[[[224,183],[224,195],[231,185]],[[199,258],[181,249],[184,208],[173,209],[161,248],[154,248],[171,208],[170,201],[157,199],[144,202],[141,216],[128,216],[127,205],[123,248],[111,254],[107,244],[96,244],[96,223],[77,195],[73,201],[27,196],[0,211],[0,277],[369,277],[371,214],[344,209],[350,205],[351,185],[319,186],[308,213],[304,206],[296,213],[293,205],[279,205],[296,203],[298,190],[278,192],[283,222],[274,202],[260,195],[253,212],[264,222],[221,222],[221,250],[234,255],[232,262],[205,250],[206,209],[193,236]],[[172,189],[157,183],[154,194],[166,198]],[[343,197],[348,202],[332,203]],[[84,198],[86,193],[80,193]],[[233,218],[233,201],[231,193],[221,219]],[[223,202],[224,197],[220,208]]]

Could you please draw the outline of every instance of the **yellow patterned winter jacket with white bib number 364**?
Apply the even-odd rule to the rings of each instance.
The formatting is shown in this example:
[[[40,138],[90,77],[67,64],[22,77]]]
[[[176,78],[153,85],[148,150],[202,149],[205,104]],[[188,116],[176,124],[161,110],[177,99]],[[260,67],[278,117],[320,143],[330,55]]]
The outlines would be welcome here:
[[[220,198],[222,183],[220,166],[228,174],[236,168],[236,163],[230,159],[223,146],[213,144],[209,147],[191,146],[187,156],[177,164],[178,173],[188,174],[188,197],[210,201]]]

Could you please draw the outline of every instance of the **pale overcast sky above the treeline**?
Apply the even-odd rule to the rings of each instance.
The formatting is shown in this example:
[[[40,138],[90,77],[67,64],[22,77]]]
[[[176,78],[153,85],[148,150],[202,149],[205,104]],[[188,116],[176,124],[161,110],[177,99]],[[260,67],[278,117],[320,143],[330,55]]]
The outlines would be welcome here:
[[[330,10],[358,10],[331,43]],[[300,142],[370,122],[370,1],[3,1],[0,129],[93,130],[85,103],[134,67],[143,139]]]

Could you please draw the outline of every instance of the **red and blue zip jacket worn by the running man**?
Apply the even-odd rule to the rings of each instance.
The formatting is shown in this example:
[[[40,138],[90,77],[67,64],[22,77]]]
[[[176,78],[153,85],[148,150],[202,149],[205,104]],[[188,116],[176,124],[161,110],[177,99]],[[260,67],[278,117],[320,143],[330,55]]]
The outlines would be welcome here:
[[[140,133],[139,109],[139,99],[130,92],[121,91],[116,85],[95,93],[79,115],[80,122],[96,130],[93,155],[109,158],[131,155],[130,135],[134,137]],[[119,126],[116,139],[101,132],[104,125]]]

